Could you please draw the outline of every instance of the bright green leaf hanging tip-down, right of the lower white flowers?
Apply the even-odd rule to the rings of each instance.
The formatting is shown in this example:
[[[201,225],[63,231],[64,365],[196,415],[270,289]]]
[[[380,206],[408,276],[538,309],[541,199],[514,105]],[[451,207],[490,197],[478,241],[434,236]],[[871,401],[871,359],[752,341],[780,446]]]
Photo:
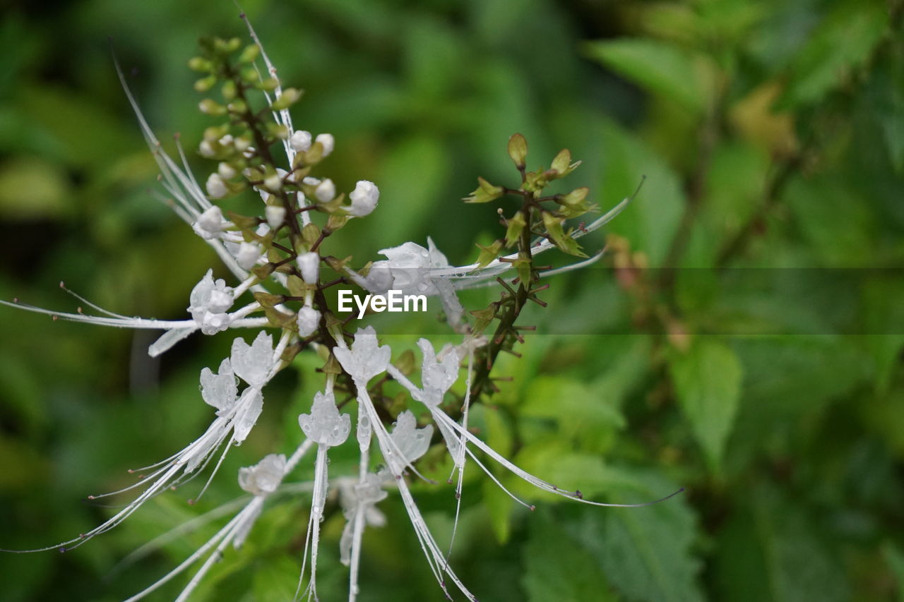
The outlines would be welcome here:
[[[688,353],[674,353],[669,369],[684,417],[713,472],[738,414],[741,365],[722,343],[698,339]]]

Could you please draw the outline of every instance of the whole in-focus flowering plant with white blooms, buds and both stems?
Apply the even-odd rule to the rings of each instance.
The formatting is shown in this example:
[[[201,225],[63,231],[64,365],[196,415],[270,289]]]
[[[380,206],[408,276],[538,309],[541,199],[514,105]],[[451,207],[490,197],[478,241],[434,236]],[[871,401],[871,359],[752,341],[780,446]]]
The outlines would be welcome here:
[[[174,211],[216,251],[237,284],[227,286],[223,279],[214,279],[212,270],[208,270],[189,296],[191,318],[174,321],[113,314],[81,297],[82,302],[102,315],[86,315],[81,311],[60,313],[18,301],[2,302],[54,318],[93,325],[163,330],[163,335],[148,350],[152,356],[164,353],[198,330],[213,335],[236,328],[259,329],[251,344],[242,337],[234,339],[230,357],[221,362],[217,372],[209,368],[202,370],[201,397],[216,409],[216,413],[201,437],[173,456],[140,469],[142,475],[137,483],[111,493],[140,492],[107,522],[71,541],[42,550],[79,547],[125,521],[150,498],[166,489],[175,489],[213,464],[209,484],[231,447],[240,445],[254,428],[264,407],[263,390],[268,381],[291,366],[297,354],[303,352],[318,353],[325,362],[323,391],[315,394],[309,412],[298,417],[303,442],[288,457],[270,454],[256,466],[241,468],[239,485],[251,494],[250,501],[200,549],[130,600],[146,597],[203,559],[200,569],[177,599],[189,597],[223,550],[230,545],[240,548],[263,511],[268,496],[289,486],[283,484],[283,480],[312,450],[315,455],[313,483],[294,488],[296,492],[309,492],[311,496],[296,595],[308,599],[317,599],[319,530],[330,489],[338,491],[346,519],[340,541],[340,560],[349,567],[350,601],[355,600],[359,592],[364,531],[367,525],[383,522],[376,506],[391,494],[398,495],[404,504],[428,568],[445,596],[452,599],[448,588],[451,583],[467,599],[477,599],[451,566],[448,552],[439,548],[410,492],[409,480],[423,478],[416,463],[434,439],[436,445],[447,449],[454,466],[453,475],[457,473],[454,488],[456,523],[462,479],[469,459],[506,494],[531,509],[532,505],[505,489],[485,467],[486,458],[542,491],[578,503],[623,507],[645,505],[599,503],[583,499],[579,491],[562,490],[515,466],[468,428],[470,405],[494,389],[490,373],[497,355],[514,353],[513,345],[523,343],[519,331],[530,329],[515,325],[523,306],[528,302],[544,305],[537,297],[538,291],[546,287],[539,285],[540,279],[564,269],[585,266],[599,259],[601,253],[567,268],[545,272],[536,268],[534,258],[552,248],[586,258],[576,239],[613,219],[630,199],[625,199],[596,221],[586,225],[581,222],[577,229],[564,230],[566,219],[579,218],[596,210],[586,200],[588,189],[547,196],[542,191],[548,183],[570,174],[579,162],[572,163],[569,151],[563,150],[551,167],[528,172],[525,167],[527,143],[523,136],[516,134],[509,141],[508,152],[521,174],[520,185],[507,188],[480,178],[476,191],[465,199],[466,202],[493,202],[504,195],[512,195],[521,202],[520,209],[511,217],[506,218],[503,209],[498,210],[505,226],[504,237],[483,247],[476,263],[450,266],[433,241],[428,240],[426,249],[414,242],[382,249],[380,253],[386,259],[353,269],[348,259],[335,259],[325,253],[325,240],[347,221],[366,218],[377,209],[380,191],[376,184],[361,181],[348,194],[346,202],[343,193],[336,193],[332,180],[312,175],[321,160],[333,151],[334,137],[329,134],[312,136],[293,127],[288,108],[300,93],[281,87],[277,71],[263,52],[250,24],[249,33],[252,43],[244,48],[237,38],[202,42],[202,56],[189,62],[194,71],[202,72],[195,89],[206,92],[218,85],[221,89],[222,102],[204,99],[200,103],[202,112],[226,118],[221,125],[208,127],[204,132],[199,154],[218,161],[218,166],[203,188],[189,169],[181,146],[179,162],[165,153],[120,71],[127,98],[160,167],[161,182],[174,200]],[[259,62],[262,62],[262,68],[259,68]],[[252,108],[256,96],[260,98],[258,103],[266,103],[264,108]],[[286,156],[284,168],[277,166],[274,151],[277,147]],[[259,193],[262,202],[257,216],[224,211],[220,204],[214,203],[249,188]],[[315,215],[325,219],[315,220]],[[339,277],[325,283],[321,278],[323,267]],[[506,280],[512,276],[509,274],[512,271],[513,279]],[[461,336],[461,342],[447,345],[437,353],[432,343],[421,339],[418,343],[422,358],[420,384],[416,384],[409,378],[413,367],[402,369],[398,358],[393,362],[390,346],[380,343],[372,326],[358,329],[353,336],[346,332],[345,327],[353,316],[346,319],[337,315],[325,296],[326,288],[337,283],[354,284],[373,294],[395,288],[438,296],[448,325]],[[502,287],[499,300],[484,309],[466,313],[458,300],[457,290],[495,284]],[[283,292],[273,292],[277,289]],[[236,308],[243,296],[252,296],[253,301]],[[485,334],[491,325],[495,325],[493,333]],[[460,400],[457,418],[453,418],[445,409],[445,402],[461,372],[465,372],[466,393]],[[396,381],[407,390],[411,403],[422,404],[428,410],[426,416],[432,424],[419,427],[415,415],[408,409],[388,419],[388,409],[379,407],[371,388],[373,379],[380,375],[383,375],[383,381]],[[243,385],[241,390],[240,384]],[[337,405],[337,392],[357,402],[357,423],[354,425],[354,439],[360,451],[357,475],[331,477],[327,472],[330,448],[353,445],[347,441],[352,433],[351,417]],[[387,423],[393,421],[388,428]],[[434,425],[438,433],[434,433]],[[450,478],[449,483],[452,481]],[[200,494],[195,499],[197,497]],[[454,533],[453,528],[453,538]]]

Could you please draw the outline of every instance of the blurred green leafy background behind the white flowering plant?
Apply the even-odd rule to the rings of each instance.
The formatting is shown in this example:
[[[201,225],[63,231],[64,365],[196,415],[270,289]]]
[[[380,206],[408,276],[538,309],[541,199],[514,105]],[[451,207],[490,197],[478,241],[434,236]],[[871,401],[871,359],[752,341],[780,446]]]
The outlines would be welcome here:
[[[584,160],[570,183],[603,207],[646,176],[607,232],[583,240],[608,242],[607,258],[551,281],[551,306],[532,314],[541,334],[502,366],[514,381],[476,409],[476,424],[525,468],[588,497],[686,491],[610,510],[516,487],[539,504],[528,513],[472,467],[453,563],[480,599],[901,595],[899,0],[244,4],[282,79],[306,89],[297,127],[336,136],[327,173],[340,190],[381,187],[379,210],[334,242],[345,255],[376,259],[429,235],[452,261],[473,260],[475,240],[498,236],[494,207],[459,199],[477,175],[516,181],[514,132],[527,136],[531,167],[569,147]],[[215,258],[148,193],[155,165],[110,48],[161,139],[180,132],[195,147],[209,121],[185,63],[201,35],[243,35],[237,15],[227,0],[5,4],[0,296],[71,311],[80,303],[58,287],[65,279],[127,315],[184,315]],[[212,170],[192,162],[199,178]],[[419,319],[410,334],[428,327]],[[197,375],[231,337],[194,337],[159,362],[144,355],[153,339],[0,306],[0,547],[88,531],[111,512],[88,494],[202,432],[211,412]],[[189,485],[78,550],[0,555],[0,597],[121,599],[162,576],[216,522],[118,563],[240,494],[238,466],[292,448],[313,366],[272,384],[202,503],[185,503]],[[439,475],[447,465],[434,456],[425,470]],[[331,471],[352,463],[340,454]],[[451,488],[417,491],[447,541]],[[307,503],[274,503],[196,598],[291,599]],[[440,599],[398,499],[381,509],[388,524],[367,532],[361,599]],[[346,596],[342,524],[331,501],[327,600]]]

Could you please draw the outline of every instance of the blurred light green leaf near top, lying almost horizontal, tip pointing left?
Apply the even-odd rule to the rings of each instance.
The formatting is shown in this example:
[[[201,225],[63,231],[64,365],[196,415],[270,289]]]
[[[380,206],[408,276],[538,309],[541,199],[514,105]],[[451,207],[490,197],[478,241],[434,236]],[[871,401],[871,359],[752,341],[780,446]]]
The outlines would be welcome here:
[[[624,75],[627,79],[674,99],[684,108],[702,112],[706,86],[694,56],[668,42],[649,39],[620,39],[589,42],[584,51],[590,59]]]

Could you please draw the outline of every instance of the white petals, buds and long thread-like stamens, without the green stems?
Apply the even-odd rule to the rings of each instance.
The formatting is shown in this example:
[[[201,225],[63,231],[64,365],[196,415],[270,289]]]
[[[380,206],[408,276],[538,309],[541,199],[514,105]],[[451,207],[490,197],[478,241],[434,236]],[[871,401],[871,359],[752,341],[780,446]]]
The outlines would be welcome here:
[[[254,37],[253,31],[251,35]],[[256,37],[254,39],[257,41]],[[266,54],[262,56],[268,68],[267,72],[275,73]],[[123,81],[123,85],[125,87],[125,81]],[[254,236],[249,236],[248,232],[243,235],[242,229],[227,220],[221,209],[211,202],[211,199],[221,199],[232,192],[230,181],[238,176],[236,170],[229,164],[220,163],[217,171],[207,179],[205,190],[201,190],[193,176],[187,171],[187,166],[183,168],[177,165],[160,150],[160,146],[150,127],[147,126],[145,118],[138,110],[135,100],[127,88],[126,91],[160,165],[165,189],[174,196],[177,202],[175,211],[204,242],[216,250],[226,268],[229,268],[235,277],[235,285],[228,286],[224,278],[215,279],[212,269],[208,270],[191,291],[188,306],[191,319],[186,320],[147,320],[109,314],[108,316],[60,314],[32,306],[22,306],[21,304],[16,304],[16,306],[80,322],[164,330],[165,333],[149,349],[151,355],[165,352],[174,343],[197,330],[203,334],[217,334],[230,328],[276,327],[278,328],[278,342],[274,345],[272,334],[264,331],[259,332],[251,344],[246,343],[242,338],[236,338],[232,343],[230,356],[222,360],[217,372],[212,372],[209,368],[204,368],[201,372],[202,400],[216,409],[215,418],[202,436],[171,458],[155,465],[154,470],[144,475],[134,485],[141,489],[141,493],[111,519],[79,538],[63,542],[54,548],[75,547],[99,533],[108,531],[135,512],[146,500],[167,488],[178,486],[188,477],[201,472],[220,449],[224,448],[222,456],[225,456],[232,446],[240,445],[249,437],[264,410],[262,392],[264,387],[279,370],[288,365],[284,361],[284,353],[287,353],[290,345],[309,344],[315,349],[320,348],[325,355],[332,355],[344,374],[351,378],[356,401],[354,438],[361,455],[357,477],[339,476],[331,480],[327,473],[329,449],[345,445],[352,430],[352,416],[341,412],[336,404],[334,394],[336,374],[329,372],[325,378],[324,390],[315,394],[310,410],[297,417],[300,428],[299,437],[303,438],[303,442],[295,452],[288,458],[281,454],[270,454],[261,459],[258,465],[240,469],[239,485],[243,491],[251,494],[250,502],[201,550],[198,550],[165,578],[160,579],[131,599],[146,596],[167,580],[174,578],[194,560],[200,560],[204,554],[209,554],[197,576],[184,589],[180,599],[187,597],[197,585],[198,580],[210,568],[219,552],[230,544],[239,548],[241,543],[246,540],[268,497],[281,490],[283,478],[312,448],[316,449],[314,480],[306,490],[311,494],[312,501],[301,574],[302,578],[306,579],[305,592],[315,598],[320,522],[324,517],[327,494],[332,484],[338,488],[346,519],[340,543],[340,560],[350,567],[350,600],[354,600],[358,594],[358,574],[365,528],[368,525],[381,526],[385,522],[382,513],[377,509],[377,504],[390,495],[389,490],[391,489],[398,491],[421,548],[424,550],[428,567],[437,578],[439,587],[449,597],[447,583],[450,582],[468,599],[476,599],[451,568],[447,555],[439,549],[437,541],[420,514],[406,480],[406,475],[419,475],[414,463],[427,452],[431,445],[434,425],[441,437],[438,445],[446,447],[454,466],[456,466],[458,473],[456,495],[459,503],[461,479],[466,459],[468,457],[476,459],[476,450],[543,491],[577,499],[583,503],[593,503],[579,499],[579,494],[562,491],[560,488],[526,473],[504,456],[496,453],[493,448],[486,445],[467,428],[467,408],[470,402],[474,353],[476,348],[485,341],[482,337],[468,334],[463,318],[464,308],[457,298],[456,291],[459,288],[482,286],[492,282],[496,277],[512,268],[511,260],[516,259],[516,255],[496,259],[484,267],[476,264],[453,267],[450,266],[446,256],[437,249],[433,240],[428,239],[427,248],[414,242],[403,242],[396,247],[381,249],[379,252],[386,259],[374,262],[366,275],[358,273],[352,268],[342,268],[344,277],[375,294],[383,294],[392,288],[400,289],[406,294],[439,298],[449,325],[456,332],[462,334],[463,338],[460,344],[447,345],[439,353],[435,352],[432,343],[428,340],[421,339],[418,342],[421,354],[419,386],[410,381],[392,364],[391,348],[379,342],[372,327],[360,329],[357,334],[354,334],[351,346],[346,343],[341,330],[329,330],[329,325],[325,324],[324,320],[325,308],[320,305],[322,302],[315,301],[314,298],[314,291],[317,290],[320,282],[322,258],[313,247],[310,250],[297,252],[293,258],[294,267],[297,269],[305,291],[302,297],[294,296],[293,298],[301,300],[303,305],[296,310],[283,304],[267,307],[267,309],[282,312],[281,315],[287,315],[291,318],[290,320],[277,326],[269,317],[249,317],[251,314],[265,309],[258,301],[250,301],[239,309],[231,311],[236,301],[248,292],[253,291],[273,296],[270,287],[282,287],[286,284],[286,277],[282,273],[274,273],[272,278],[264,280],[249,274],[249,270],[255,266],[268,264],[266,249],[260,240],[265,240],[276,233],[287,223],[287,220],[300,219],[303,225],[310,223],[308,212],[299,211],[297,215],[287,214],[286,207],[268,202],[270,193],[281,190],[284,184],[295,183],[292,179],[293,175],[284,170],[278,170],[275,174],[268,175],[263,187],[259,188],[261,198],[267,203],[263,208],[262,218],[255,222],[257,226]],[[276,98],[279,98],[281,94],[281,90],[277,89]],[[285,127],[288,130],[284,147],[290,165],[293,165],[293,157],[296,154],[307,153],[315,145],[320,146],[322,156],[330,155],[334,151],[334,137],[329,134],[312,136],[310,132],[304,130],[293,131],[286,110],[274,111],[273,118],[279,127]],[[201,155],[215,157],[217,147],[235,145],[239,148],[239,143],[238,138],[223,136],[219,141],[203,142],[200,152]],[[239,150],[246,154],[254,152],[254,149],[247,144],[241,146]],[[335,185],[328,178],[316,179],[306,176],[297,186],[306,186],[307,188],[304,190],[308,193],[313,190],[315,202],[338,202],[336,201]],[[297,194],[296,198],[301,210],[308,208],[303,193],[293,194]],[[380,191],[374,183],[363,180],[355,185],[348,198],[350,204],[344,205],[338,210],[340,215],[343,215],[344,218],[363,218],[376,209]],[[598,221],[576,233],[575,238],[598,229],[611,220],[624,206],[623,202]],[[235,217],[232,219],[238,221]],[[541,240],[536,243],[532,252],[536,255],[551,249],[552,246],[549,240]],[[572,268],[586,265],[586,263],[575,264]],[[548,274],[552,273],[554,272]],[[325,339],[326,334],[329,334],[329,339]],[[321,348],[324,340],[333,340],[335,344],[332,348]],[[464,415],[457,420],[449,417],[442,406],[447,392],[458,381],[463,369],[466,370],[468,385],[466,386]],[[432,424],[419,427],[415,415],[410,410],[405,410],[397,416],[394,428],[390,432],[383,425],[368,389],[372,379],[381,374],[399,382],[408,391],[412,402],[422,404],[427,410],[426,415]],[[243,390],[239,390],[240,381],[245,383]],[[376,449],[372,448],[374,441]],[[216,467],[220,466],[222,456],[214,464],[214,473]],[[382,467],[374,471],[372,465],[378,458]],[[477,464],[495,481],[495,477],[482,463]],[[498,484],[498,481],[496,483]],[[505,493],[512,495],[507,490]],[[514,499],[518,503],[529,506],[518,498]],[[215,552],[211,550],[215,550]]]

